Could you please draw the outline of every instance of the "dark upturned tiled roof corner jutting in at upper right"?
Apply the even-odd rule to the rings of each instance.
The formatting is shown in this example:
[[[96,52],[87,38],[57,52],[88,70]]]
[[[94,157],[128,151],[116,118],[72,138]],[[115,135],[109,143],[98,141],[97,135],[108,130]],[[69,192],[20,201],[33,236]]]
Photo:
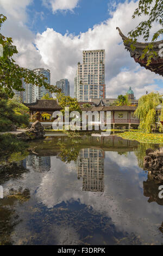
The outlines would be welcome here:
[[[118,32],[123,40],[123,44],[127,51],[130,52],[130,56],[134,58],[135,62],[139,63],[141,66],[143,66],[146,69],[151,70],[152,72],[155,72],[155,74],[159,74],[160,76],[163,76],[163,57],[160,56],[159,51],[161,50],[161,44],[163,44],[163,40],[152,42],[153,44],[153,50],[157,53],[156,56],[154,56],[151,60],[151,64],[147,66],[147,54],[145,54],[145,58],[140,59],[140,57],[143,54],[143,50],[145,47],[151,43],[149,42],[135,42],[133,46],[135,47],[135,50],[131,50],[131,43],[127,42],[128,40],[127,36],[123,35],[120,28],[118,28]]]

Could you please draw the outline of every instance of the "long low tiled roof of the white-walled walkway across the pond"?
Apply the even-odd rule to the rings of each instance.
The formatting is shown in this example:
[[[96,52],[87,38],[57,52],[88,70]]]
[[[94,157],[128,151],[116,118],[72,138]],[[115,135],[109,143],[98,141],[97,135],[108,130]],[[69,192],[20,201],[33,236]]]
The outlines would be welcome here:
[[[135,111],[135,106],[82,107],[82,111]]]

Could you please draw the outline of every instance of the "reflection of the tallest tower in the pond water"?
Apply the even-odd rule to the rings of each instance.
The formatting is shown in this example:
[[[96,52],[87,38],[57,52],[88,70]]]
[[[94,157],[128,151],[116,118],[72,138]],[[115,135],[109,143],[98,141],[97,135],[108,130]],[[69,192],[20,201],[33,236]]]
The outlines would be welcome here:
[[[83,191],[104,192],[104,159],[102,149],[82,149],[77,160],[78,178],[83,178]]]

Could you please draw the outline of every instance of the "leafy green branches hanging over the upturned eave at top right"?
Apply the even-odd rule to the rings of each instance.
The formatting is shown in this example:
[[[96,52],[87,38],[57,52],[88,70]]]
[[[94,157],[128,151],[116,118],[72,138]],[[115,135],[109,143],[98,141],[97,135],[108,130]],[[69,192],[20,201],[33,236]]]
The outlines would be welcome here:
[[[143,35],[143,39],[147,41],[153,27],[153,23],[156,22],[160,25],[160,29],[156,31],[152,36],[152,42],[156,41],[160,35],[163,34],[163,0],[140,0],[139,5],[134,11],[133,19],[136,16],[145,15],[147,19],[141,21],[135,30],[131,30],[129,34],[129,40],[131,42],[136,42],[139,36]],[[131,47],[134,45],[132,44]],[[145,54],[148,54],[147,65],[151,63],[151,59],[156,55],[156,52],[153,50],[153,44],[148,44],[143,50],[141,59],[145,58]]]

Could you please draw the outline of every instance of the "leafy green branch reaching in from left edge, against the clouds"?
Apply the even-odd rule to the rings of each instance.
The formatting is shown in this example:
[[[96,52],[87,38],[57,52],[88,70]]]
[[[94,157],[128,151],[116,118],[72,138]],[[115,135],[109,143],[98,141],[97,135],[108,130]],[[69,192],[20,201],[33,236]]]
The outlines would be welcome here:
[[[0,29],[7,20],[3,14],[0,14]],[[0,57],[0,89],[4,88],[5,93],[9,97],[14,96],[13,89],[22,92],[22,80],[26,83],[35,84],[36,86],[44,86],[49,92],[58,92],[57,86],[51,86],[47,82],[47,78],[43,75],[37,75],[34,71],[22,68],[16,64],[12,58],[18,51],[16,46],[12,44],[12,38],[5,37],[0,33],[0,44],[3,47],[3,56]]]

